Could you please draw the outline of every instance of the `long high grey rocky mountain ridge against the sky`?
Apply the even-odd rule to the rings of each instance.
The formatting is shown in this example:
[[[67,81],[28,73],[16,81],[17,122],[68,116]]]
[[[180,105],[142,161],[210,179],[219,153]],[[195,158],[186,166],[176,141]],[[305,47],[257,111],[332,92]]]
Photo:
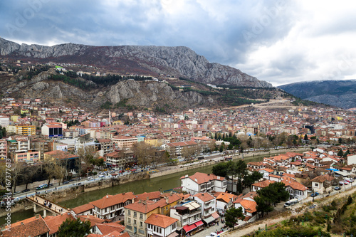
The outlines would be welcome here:
[[[93,65],[139,75],[173,75],[214,85],[272,87],[270,83],[242,73],[239,69],[210,63],[204,56],[184,46],[85,46],[75,43],[40,46],[20,45],[0,38],[0,56],[39,63],[52,61]]]

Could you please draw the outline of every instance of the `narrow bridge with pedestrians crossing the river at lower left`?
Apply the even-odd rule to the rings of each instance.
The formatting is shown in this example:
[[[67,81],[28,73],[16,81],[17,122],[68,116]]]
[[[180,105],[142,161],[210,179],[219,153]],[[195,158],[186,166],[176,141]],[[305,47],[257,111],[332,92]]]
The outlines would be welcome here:
[[[26,196],[26,199],[33,203],[33,212],[37,213],[40,211],[37,210],[37,207],[41,207],[43,209],[43,217],[47,216],[47,211],[50,211],[54,214],[54,216],[65,214],[69,211],[69,209],[66,209],[64,206],[55,204],[42,196],[38,196],[37,194]]]

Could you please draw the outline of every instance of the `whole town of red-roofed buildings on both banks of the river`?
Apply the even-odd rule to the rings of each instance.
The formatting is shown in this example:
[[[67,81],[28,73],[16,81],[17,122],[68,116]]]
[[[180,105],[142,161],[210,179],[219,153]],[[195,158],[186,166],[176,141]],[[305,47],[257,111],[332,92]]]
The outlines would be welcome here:
[[[49,106],[41,99],[6,97],[0,110],[2,206],[16,205],[22,196],[43,209],[43,216],[9,223],[13,232],[4,228],[4,236],[14,231],[21,236],[27,225],[43,226],[33,228],[31,236],[57,236],[67,218],[90,221],[91,233],[101,236],[190,236],[220,223],[218,234],[271,211],[258,209],[259,192],[268,186],[283,184],[288,195],[276,202],[286,201],[288,208],[350,189],[356,174],[355,114],[337,108],[249,105],[172,115],[108,111],[104,116]],[[248,152],[296,147],[313,149],[265,155],[261,162],[241,159]],[[164,167],[213,160],[214,155],[215,162],[222,162],[215,174],[184,176],[180,189],[172,187],[168,193],[106,195],[70,210],[41,197],[49,188],[70,188],[75,180],[87,185],[135,173],[150,175]],[[240,174],[226,168],[236,158],[244,168]],[[11,167],[11,184],[6,167]],[[241,211],[232,223],[226,220],[231,209]]]

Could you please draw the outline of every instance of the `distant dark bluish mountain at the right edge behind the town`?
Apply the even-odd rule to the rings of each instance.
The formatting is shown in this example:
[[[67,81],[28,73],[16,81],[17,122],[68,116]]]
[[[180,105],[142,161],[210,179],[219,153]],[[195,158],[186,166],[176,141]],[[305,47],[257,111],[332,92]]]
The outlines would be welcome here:
[[[280,85],[278,88],[304,100],[343,109],[356,107],[356,80],[313,80]]]

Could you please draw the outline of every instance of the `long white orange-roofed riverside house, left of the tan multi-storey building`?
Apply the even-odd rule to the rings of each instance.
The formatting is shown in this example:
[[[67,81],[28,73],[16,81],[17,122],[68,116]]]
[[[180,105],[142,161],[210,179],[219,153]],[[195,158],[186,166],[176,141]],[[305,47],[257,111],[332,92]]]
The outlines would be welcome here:
[[[112,219],[124,215],[124,207],[134,203],[135,195],[130,191],[128,193],[106,195],[103,199],[91,201],[94,206],[93,215],[102,219]]]

